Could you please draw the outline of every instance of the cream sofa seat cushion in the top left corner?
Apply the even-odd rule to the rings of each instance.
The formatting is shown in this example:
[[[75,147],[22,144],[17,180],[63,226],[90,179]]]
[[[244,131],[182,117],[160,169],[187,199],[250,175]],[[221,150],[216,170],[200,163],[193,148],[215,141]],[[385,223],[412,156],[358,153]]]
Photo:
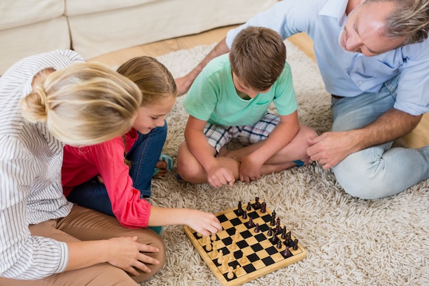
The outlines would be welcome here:
[[[64,1],[2,0],[0,11],[0,30],[9,29],[61,16],[64,14]]]

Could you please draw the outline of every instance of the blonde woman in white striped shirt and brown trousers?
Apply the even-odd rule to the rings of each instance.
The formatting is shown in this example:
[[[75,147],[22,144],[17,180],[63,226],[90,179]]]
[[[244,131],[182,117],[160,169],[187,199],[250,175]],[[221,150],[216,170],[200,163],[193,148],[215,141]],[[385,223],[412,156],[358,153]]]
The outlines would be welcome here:
[[[135,286],[160,270],[164,244],[153,231],[124,228],[62,193],[64,143],[130,130],[137,86],[64,50],[14,64],[0,95],[0,285]]]

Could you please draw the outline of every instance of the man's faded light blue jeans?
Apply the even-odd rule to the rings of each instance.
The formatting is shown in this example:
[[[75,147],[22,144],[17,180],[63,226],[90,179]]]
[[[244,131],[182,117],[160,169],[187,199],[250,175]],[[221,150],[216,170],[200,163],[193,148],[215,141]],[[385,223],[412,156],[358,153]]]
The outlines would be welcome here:
[[[379,93],[357,97],[332,97],[332,131],[362,128],[393,108],[399,76]],[[420,149],[391,147],[392,142],[369,147],[347,156],[332,169],[345,192],[358,198],[395,195],[429,178],[429,146]]]

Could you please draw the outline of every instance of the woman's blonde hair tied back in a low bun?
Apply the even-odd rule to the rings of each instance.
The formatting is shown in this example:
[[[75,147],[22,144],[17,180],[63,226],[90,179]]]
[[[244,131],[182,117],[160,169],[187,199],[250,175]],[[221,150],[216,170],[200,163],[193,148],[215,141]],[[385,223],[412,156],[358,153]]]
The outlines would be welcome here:
[[[23,117],[45,122],[68,145],[94,145],[132,128],[142,101],[131,80],[99,63],[76,63],[41,74],[21,102]]]

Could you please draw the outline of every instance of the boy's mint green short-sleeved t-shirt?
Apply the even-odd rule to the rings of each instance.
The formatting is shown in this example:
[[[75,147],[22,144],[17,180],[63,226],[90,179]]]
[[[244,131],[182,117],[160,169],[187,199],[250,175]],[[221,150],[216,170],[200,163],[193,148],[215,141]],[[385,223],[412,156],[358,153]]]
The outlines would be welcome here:
[[[269,68],[269,67],[267,67]],[[199,73],[183,100],[186,112],[208,123],[221,126],[252,125],[267,112],[271,102],[279,115],[290,115],[297,110],[291,67],[284,70],[267,93],[258,93],[253,99],[238,96],[228,54],[211,60]]]

